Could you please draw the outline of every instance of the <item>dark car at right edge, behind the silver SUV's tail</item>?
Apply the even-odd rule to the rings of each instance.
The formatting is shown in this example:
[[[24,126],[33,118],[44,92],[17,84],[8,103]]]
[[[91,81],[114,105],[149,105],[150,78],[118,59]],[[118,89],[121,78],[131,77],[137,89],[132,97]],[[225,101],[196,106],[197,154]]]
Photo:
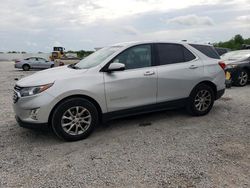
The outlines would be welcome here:
[[[221,56],[226,63],[226,73],[236,86],[245,86],[250,80],[250,50],[237,50]]]

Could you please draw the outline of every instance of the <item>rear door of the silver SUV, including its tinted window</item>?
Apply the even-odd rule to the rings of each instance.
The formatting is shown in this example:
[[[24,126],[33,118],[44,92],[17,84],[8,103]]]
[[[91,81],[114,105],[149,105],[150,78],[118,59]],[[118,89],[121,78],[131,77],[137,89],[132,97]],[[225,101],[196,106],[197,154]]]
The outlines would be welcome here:
[[[191,51],[181,44],[158,43],[157,102],[183,99],[203,78],[204,66]]]

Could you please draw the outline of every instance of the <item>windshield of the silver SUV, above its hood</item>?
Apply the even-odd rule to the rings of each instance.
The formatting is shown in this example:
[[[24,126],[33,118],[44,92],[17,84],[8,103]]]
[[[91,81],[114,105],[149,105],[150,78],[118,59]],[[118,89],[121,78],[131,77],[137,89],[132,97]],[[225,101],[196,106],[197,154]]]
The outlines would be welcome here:
[[[106,60],[109,56],[111,56],[121,47],[122,46],[111,46],[111,47],[102,48],[94,52],[93,54],[87,56],[83,60],[81,60],[79,63],[75,65],[75,67],[80,68],[80,69],[89,69],[97,65],[100,65],[104,60]]]

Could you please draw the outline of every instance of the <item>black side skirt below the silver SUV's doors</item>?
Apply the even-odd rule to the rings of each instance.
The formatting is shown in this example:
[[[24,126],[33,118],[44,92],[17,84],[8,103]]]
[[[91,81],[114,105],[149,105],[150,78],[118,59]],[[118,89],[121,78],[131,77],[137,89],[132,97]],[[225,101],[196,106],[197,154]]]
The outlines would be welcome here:
[[[156,111],[163,111],[163,110],[170,110],[170,109],[176,109],[176,108],[182,108],[185,107],[187,104],[188,98],[184,99],[178,99],[174,101],[168,101],[168,102],[161,102],[157,104],[150,104],[145,106],[139,106],[134,108],[129,108],[125,110],[119,110],[114,112],[108,112],[103,114],[102,121],[107,122],[109,120],[118,119],[122,117],[128,117],[128,116],[134,116],[134,115],[140,115],[150,112],[156,112]]]

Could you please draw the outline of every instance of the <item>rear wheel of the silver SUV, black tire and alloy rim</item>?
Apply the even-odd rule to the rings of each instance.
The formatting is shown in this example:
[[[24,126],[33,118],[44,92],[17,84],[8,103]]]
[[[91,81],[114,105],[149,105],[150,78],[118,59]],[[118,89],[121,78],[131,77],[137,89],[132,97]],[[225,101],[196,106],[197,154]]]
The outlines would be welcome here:
[[[210,112],[215,100],[213,89],[207,84],[199,84],[191,92],[187,111],[193,116],[203,116]]]

